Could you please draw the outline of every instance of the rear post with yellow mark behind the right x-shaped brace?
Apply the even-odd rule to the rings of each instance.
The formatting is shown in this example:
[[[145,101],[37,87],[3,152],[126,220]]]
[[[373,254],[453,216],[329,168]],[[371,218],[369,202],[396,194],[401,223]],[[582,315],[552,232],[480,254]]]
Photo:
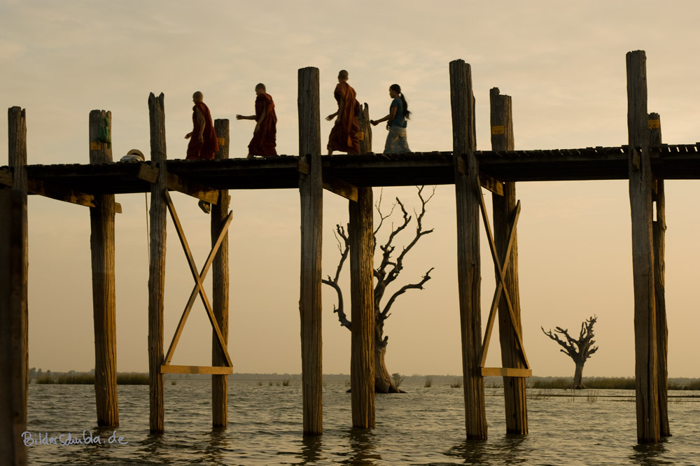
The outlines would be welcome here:
[[[501,95],[498,87],[491,89],[491,149],[514,150],[512,102],[509,95]],[[503,196],[493,194],[493,230],[496,249],[500,254],[500,264],[505,261],[508,247],[510,225],[515,215],[517,199],[515,183],[503,183]],[[498,272],[496,273],[498,283]],[[512,250],[508,268],[505,273],[505,287],[510,296],[513,313],[522,335],[520,318],[520,288],[518,285],[518,240],[513,234]],[[501,295],[498,304],[498,332],[500,334],[500,360],[503,367],[525,368],[517,346],[517,335],[510,323],[510,313],[505,297]],[[526,434],[527,428],[527,393],[524,377],[503,377],[505,394],[505,429],[509,434]]]

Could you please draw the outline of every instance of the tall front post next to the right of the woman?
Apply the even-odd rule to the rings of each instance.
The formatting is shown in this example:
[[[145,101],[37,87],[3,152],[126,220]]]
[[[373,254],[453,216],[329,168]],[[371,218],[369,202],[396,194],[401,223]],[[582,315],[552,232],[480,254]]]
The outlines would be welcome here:
[[[452,147],[457,204],[457,286],[462,337],[464,409],[468,439],[486,439],[481,353],[481,258],[479,256],[479,162],[476,149],[472,73],[463,60],[449,63]]]

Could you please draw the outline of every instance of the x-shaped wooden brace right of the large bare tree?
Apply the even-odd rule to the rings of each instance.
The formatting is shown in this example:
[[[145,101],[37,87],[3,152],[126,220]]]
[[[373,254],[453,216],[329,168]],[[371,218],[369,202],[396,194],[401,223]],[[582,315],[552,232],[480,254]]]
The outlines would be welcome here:
[[[503,258],[503,267],[501,267],[500,259],[498,258],[498,252],[496,251],[496,241],[494,241],[493,239],[493,234],[491,233],[491,225],[489,224],[489,216],[486,213],[486,204],[484,204],[484,194],[482,193],[480,186],[481,183],[477,183],[477,190],[479,190],[479,200],[481,201],[482,218],[484,219],[484,226],[486,227],[486,236],[488,236],[489,238],[489,246],[491,246],[493,267],[496,269],[496,274],[498,274],[498,283],[496,285],[496,292],[493,293],[491,311],[489,311],[489,321],[488,323],[486,323],[486,333],[484,334],[484,344],[482,345],[482,355],[481,360],[479,362],[479,367],[484,367],[484,364],[486,364],[486,352],[489,351],[489,340],[491,339],[491,331],[493,330],[493,321],[496,318],[496,309],[498,309],[500,295],[501,293],[503,293],[503,297],[505,297],[505,302],[508,305],[508,313],[510,313],[510,323],[513,326],[513,330],[517,338],[518,346],[520,347],[520,352],[523,357],[525,368],[529,369],[530,364],[528,363],[527,356],[525,355],[525,347],[523,346],[522,336],[520,334],[520,330],[515,324],[517,320],[515,318],[513,304],[512,302],[510,302],[508,290],[507,288],[505,288],[505,272],[508,269],[508,262],[510,262],[510,252],[512,250],[513,239],[515,236],[515,225],[517,225],[518,217],[520,216],[520,201],[518,201],[517,205],[515,206],[515,215],[510,225],[510,232],[508,232],[508,243],[507,248],[505,250],[505,257]]]

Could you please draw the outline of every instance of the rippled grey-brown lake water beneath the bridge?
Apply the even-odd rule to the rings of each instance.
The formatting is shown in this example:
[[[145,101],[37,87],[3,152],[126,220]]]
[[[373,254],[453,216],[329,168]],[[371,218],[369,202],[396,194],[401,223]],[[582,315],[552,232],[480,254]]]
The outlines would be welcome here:
[[[404,383],[377,395],[377,428],[353,430],[343,382],[323,390],[321,437],[302,437],[301,382],[230,381],[229,425],[211,428],[211,383],[167,382],[164,435],[148,434],[148,386],[119,386],[120,427],[97,428],[92,386],[30,385],[32,439],[83,430],[101,444],[27,447],[30,465],[699,465],[700,392],[671,392],[666,442],[636,444],[630,390],[528,391],[530,433],[505,435],[503,389],[486,389],[489,439],[465,440],[461,388]],[[575,397],[571,395],[577,395]],[[675,397],[682,395],[682,397]],[[694,397],[687,397],[694,395]],[[118,443],[123,437],[123,444]],[[44,437],[45,438],[45,437]],[[64,437],[65,438],[65,437]],[[128,443],[124,443],[128,442]]]

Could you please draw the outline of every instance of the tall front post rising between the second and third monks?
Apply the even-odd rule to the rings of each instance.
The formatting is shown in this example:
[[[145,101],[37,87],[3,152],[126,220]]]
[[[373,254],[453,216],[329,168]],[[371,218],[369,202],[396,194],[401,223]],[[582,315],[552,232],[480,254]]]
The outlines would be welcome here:
[[[323,182],[321,176],[321,108],[318,68],[298,73],[300,169],[301,283],[299,313],[302,337],[304,435],[323,433],[323,368],[321,361],[321,228]],[[301,166],[301,164],[300,164]],[[307,172],[307,173],[304,173]]]

